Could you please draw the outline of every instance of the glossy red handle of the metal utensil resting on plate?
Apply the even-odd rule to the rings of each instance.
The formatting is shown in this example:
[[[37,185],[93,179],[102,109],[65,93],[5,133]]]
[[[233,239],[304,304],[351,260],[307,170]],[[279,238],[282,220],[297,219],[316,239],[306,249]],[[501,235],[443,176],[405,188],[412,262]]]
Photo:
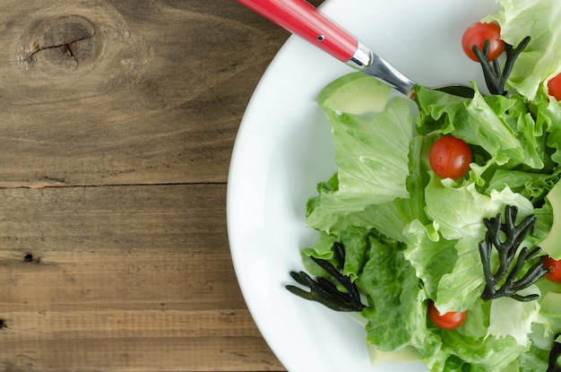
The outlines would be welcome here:
[[[237,0],[342,62],[358,50],[358,39],[305,0]]]

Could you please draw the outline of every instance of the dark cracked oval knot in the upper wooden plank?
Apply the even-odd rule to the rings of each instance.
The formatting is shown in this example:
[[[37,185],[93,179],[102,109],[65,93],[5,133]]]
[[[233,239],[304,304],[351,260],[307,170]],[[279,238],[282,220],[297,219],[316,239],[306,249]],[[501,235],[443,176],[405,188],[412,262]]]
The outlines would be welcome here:
[[[42,67],[67,73],[91,65],[100,47],[96,28],[86,18],[77,14],[50,16],[24,31],[19,57],[24,69]]]

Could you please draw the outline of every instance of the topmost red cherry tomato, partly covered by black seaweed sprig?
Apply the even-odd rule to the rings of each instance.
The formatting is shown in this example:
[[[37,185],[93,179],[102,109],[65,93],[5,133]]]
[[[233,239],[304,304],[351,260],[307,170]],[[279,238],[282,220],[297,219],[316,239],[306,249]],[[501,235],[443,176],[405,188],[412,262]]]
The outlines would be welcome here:
[[[479,49],[483,50],[485,40],[489,40],[489,55],[488,60],[492,61],[500,56],[505,50],[505,41],[500,39],[501,28],[496,23],[482,23],[477,22],[468,27],[463,32],[462,36],[462,49],[466,56],[475,62],[479,59],[473,53],[473,46],[477,45]]]

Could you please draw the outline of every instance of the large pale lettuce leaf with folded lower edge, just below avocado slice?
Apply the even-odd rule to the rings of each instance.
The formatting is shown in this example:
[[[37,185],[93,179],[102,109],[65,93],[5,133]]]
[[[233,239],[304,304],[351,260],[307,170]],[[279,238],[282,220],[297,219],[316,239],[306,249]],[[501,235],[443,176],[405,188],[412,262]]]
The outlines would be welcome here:
[[[375,228],[402,239],[401,231],[414,213],[407,185],[410,101],[392,99],[374,118],[325,111],[339,171],[319,184],[319,196],[307,203],[307,224],[335,234],[349,226]]]

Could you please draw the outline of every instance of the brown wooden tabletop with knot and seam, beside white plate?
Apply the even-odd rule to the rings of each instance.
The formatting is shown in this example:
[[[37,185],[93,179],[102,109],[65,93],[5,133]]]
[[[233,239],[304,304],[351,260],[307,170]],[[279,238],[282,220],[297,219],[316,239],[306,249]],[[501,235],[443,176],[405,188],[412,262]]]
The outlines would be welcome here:
[[[283,370],[225,203],[289,34],[233,0],[4,0],[0,28],[0,371]]]

